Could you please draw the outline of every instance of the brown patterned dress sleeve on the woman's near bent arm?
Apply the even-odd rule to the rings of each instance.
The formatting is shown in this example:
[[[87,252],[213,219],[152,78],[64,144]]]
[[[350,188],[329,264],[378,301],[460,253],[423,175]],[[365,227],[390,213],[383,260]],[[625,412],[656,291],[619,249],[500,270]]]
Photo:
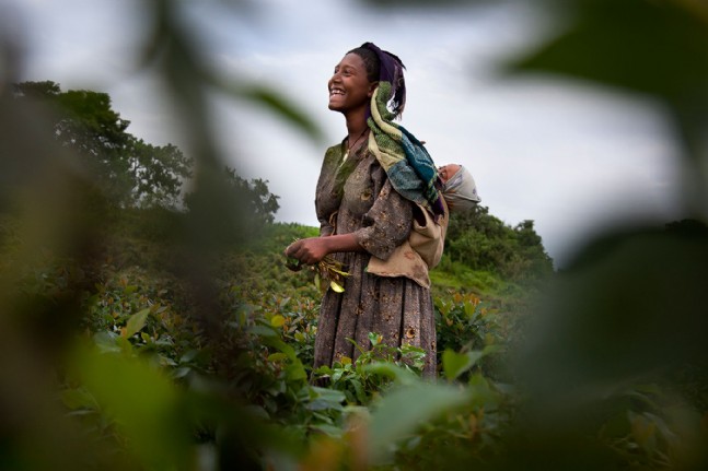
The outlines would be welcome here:
[[[386,178],[362,223],[355,233],[357,242],[369,254],[386,260],[397,246],[408,239],[413,226],[413,202],[398,195]]]

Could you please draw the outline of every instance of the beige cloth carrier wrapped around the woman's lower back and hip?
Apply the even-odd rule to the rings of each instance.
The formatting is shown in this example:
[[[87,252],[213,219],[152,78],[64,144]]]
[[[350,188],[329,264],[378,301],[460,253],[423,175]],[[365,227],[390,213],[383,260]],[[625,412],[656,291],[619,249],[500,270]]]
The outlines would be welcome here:
[[[430,289],[428,270],[434,268],[442,257],[450,213],[444,205],[444,214],[436,222],[425,208],[418,208],[426,217],[425,225],[414,220],[408,240],[396,247],[386,260],[371,256],[367,272],[379,276],[406,276]]]

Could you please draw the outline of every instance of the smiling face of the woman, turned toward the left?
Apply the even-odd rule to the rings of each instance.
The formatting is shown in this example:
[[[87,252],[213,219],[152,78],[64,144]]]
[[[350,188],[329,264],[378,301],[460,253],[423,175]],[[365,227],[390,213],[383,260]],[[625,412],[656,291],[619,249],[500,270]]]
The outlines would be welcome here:
[[[365,107],[375,87],[376,82],[369,82],[367,78],[361,57],[349,52],[335,67],[335,73],[327,83],[329,109],[347,113]]]

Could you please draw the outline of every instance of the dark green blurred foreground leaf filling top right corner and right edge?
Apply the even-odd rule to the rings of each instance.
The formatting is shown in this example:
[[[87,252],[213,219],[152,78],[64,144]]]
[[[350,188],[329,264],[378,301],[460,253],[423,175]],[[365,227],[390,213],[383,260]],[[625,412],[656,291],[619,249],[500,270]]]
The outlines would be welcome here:
[[[542,1],[559,32],[509,66],[595,82],[657,101],[682,148],[689,216],[708,216],[708,3],[695,0]]]

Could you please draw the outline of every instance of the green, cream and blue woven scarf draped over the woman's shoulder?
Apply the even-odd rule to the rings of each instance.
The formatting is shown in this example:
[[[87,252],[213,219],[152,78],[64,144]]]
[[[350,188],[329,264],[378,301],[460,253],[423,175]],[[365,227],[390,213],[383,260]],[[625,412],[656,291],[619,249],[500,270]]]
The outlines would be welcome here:
[[[368,119],[371,151],[394,189],[404,198],[420,204],[431,214],[443,214],[442,196],[436,182],[438,169],[426,148],[403,126],[393,122],[394,114],[386,106],[391,83],[379,82],[371,97]]]

